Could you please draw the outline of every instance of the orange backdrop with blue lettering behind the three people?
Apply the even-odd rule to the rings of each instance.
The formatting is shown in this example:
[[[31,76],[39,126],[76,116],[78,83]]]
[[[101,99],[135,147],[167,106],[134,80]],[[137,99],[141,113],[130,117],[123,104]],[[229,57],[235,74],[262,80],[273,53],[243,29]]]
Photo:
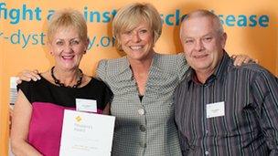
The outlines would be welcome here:
[[[102,58],[123,56],[114,48],[112,17],[131,0],[73,1],[5,0],[0,2],[0,155],[7,155],[9,78],[23,69],[40,71],[53,65],[48,53],[48,18],[59,8],[71,7],[83,13],[89,26],[90,46],[81,62],[83,72],[94,75]],[[139,1],[142,2],[142,1]],[[206,8],[218,15],[228,33],[230,54],[247,54],[278,76],[278,5],[275,0],[218,1],[166,0],[150,2],[160,12],[163,34],[155,45],[159,53],[175,54],[179,46],[178,26],[188,11]]]

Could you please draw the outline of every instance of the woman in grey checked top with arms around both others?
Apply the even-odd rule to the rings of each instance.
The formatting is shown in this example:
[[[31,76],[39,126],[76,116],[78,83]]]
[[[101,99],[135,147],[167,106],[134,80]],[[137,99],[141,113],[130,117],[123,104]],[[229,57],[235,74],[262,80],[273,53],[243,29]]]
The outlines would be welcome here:
[[[112,155],[181,155],[173,94],[187,64],[183,55],[155,53],[161,31],[161,17],[150,4],[126,5],[113,19],[117,48],[126,56],[102,60],[97,69],[98,77],[114,94],[111,114],[116,123]],[[240,62],[245,58],[249,60],[239,57]],[[31,75],[21,78],[28,79]]]

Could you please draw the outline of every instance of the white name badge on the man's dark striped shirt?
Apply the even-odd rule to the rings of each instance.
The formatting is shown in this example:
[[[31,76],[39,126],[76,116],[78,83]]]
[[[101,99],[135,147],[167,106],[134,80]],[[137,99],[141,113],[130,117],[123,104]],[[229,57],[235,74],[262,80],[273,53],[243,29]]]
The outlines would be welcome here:
[[[224,101],[207,104],[207,118],[225,116]]]

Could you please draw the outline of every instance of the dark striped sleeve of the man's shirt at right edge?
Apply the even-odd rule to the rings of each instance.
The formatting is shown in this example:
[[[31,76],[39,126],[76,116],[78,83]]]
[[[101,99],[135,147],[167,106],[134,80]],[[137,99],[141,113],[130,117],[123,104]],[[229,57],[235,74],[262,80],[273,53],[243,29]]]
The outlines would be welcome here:
[[[270,155],[278,155],[278,82],[270,72],[264,71],[251,83],[252,96],[260,108],[257,110]]]

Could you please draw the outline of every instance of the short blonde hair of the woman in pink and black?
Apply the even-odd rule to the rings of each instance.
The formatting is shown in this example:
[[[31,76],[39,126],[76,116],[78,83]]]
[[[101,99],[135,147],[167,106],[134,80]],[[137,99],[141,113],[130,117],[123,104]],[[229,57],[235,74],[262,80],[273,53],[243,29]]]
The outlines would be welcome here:
[[[84,16],[79,11],[73,9],[62,9],[51,16],[48,23],[48,41],[51,42],[53,36],[60,27],[76,28],[79,31],[80,38],[87,40],[88,30]]]

